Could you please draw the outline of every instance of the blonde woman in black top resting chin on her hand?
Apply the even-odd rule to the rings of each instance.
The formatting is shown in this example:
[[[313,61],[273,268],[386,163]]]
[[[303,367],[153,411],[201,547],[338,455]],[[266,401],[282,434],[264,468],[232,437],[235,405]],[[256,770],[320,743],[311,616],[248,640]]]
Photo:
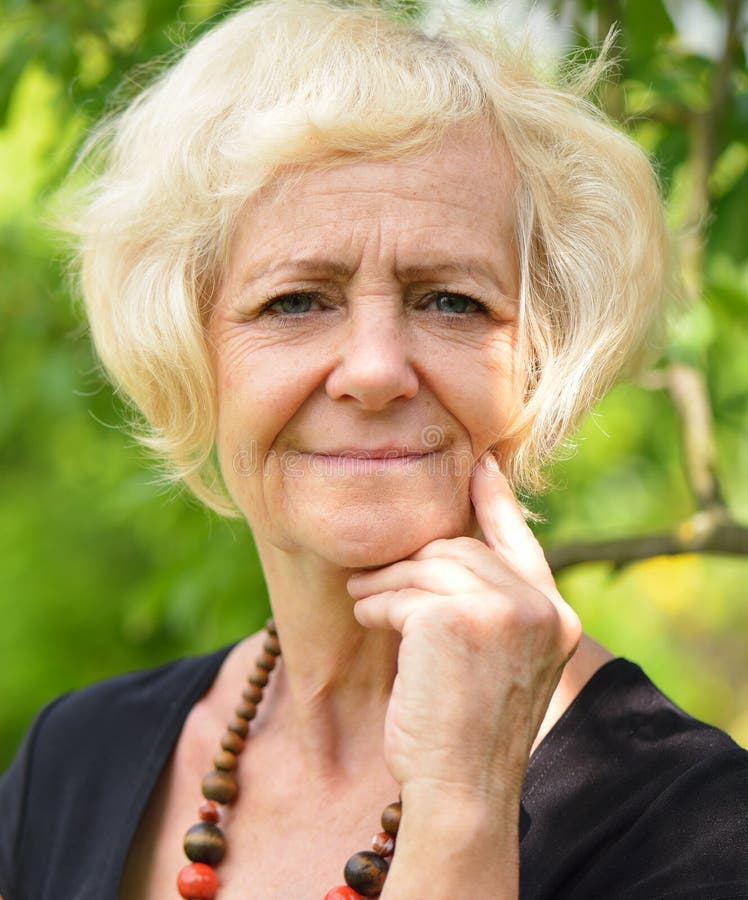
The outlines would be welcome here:
[[[5,900],[748,897],[746,754],[581,634],[514,499],[662,316],[595,74],[271,0],[108,123],[93,337],[274,622],[40,714]]]

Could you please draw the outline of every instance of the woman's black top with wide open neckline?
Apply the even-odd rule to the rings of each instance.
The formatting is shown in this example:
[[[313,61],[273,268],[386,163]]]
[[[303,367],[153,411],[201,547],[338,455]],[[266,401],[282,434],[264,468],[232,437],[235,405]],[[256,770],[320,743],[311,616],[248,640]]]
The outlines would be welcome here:
[[[39,714],[0,779],[5,900],[115,900],[158,776],[229,649]],[[522,805],[522,900],[748,900],[748,753],[623,659],[533,754]]]

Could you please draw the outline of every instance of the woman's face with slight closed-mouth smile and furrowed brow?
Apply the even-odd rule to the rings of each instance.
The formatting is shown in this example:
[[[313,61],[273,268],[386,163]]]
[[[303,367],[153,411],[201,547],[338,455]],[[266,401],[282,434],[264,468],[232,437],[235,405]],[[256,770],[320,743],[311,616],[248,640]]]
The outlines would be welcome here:
[[[383,565],[472,533],[518,403],[512,176],[474,127],[296,177],[248,206],[210,321],[220,464],[261,553]]]

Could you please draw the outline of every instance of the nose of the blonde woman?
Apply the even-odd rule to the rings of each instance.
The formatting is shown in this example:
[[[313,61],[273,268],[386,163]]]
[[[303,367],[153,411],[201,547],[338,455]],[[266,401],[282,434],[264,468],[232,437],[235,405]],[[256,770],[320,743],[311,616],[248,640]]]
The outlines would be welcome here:
[[[326,390],[333,400],[350,397],[373,412],[418,393],[411,341],[399,305],[395,308],[382,298],[354,304]]]

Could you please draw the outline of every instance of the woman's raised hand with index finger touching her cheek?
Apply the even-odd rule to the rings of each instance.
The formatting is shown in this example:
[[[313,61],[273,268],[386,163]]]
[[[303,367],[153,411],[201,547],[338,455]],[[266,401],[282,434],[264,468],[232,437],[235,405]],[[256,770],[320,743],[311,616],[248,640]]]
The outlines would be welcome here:
[[[362,625],[402,634],[384,753],[405,815],[409,795],[453,804],[511,818],[516,840],[530,749],[581,629],[493,457],[470,492],[485,543],[435,540],[348,588]]]

